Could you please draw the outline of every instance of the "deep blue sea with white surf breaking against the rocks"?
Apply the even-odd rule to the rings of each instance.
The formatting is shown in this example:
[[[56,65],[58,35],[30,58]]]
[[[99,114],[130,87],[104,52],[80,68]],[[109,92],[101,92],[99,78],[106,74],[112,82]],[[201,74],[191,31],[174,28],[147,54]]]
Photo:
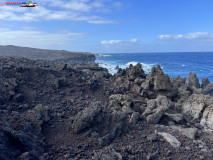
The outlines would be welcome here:
[[[170,77],[188,77],[189,72],[193,72],[197,73],[200,82],[208,77],[213,83],[213,52],[99,54],[96,62],[107,68],[111,74],[116,73],[117,65],[126,68],[130,64],[141,63],[146,73],[152,67],[160,65]]]

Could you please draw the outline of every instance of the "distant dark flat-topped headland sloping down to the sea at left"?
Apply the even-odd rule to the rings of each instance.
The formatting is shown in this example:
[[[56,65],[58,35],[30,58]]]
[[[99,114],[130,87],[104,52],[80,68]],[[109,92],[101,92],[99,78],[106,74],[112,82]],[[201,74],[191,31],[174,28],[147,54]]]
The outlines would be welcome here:
[[[89,52],[69,52],[65,50],[47,50],[13,45],[1,46],[0,56],[24,57],[50,61],[86,62],[95,61],[95,55]]]

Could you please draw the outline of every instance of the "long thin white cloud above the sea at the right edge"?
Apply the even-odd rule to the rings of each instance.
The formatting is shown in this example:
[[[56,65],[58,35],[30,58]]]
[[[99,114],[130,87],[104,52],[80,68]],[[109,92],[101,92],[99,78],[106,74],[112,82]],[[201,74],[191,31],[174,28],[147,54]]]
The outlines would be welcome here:
[[[207,32],[195,32],[195,33],[186,33],[186,34],[178,34],[178,35],[160,35],[158,39],[160,40],[175,40],[175,39],[209,39],[213,38],[212,33]]]

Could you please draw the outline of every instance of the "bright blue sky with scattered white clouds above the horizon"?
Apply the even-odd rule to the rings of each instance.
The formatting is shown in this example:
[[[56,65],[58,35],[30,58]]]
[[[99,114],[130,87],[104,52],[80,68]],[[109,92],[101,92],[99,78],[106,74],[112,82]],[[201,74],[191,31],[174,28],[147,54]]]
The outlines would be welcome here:
[[[213,51],[212,0],[32,2],[38,6],[0,5],[0,45],[92,53]]]

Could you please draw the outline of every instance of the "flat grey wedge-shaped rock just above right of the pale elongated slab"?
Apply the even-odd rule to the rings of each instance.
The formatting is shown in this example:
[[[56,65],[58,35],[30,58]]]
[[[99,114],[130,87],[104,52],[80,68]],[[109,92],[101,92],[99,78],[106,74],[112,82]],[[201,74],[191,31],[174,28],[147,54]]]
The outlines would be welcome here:
[[[197,128],[183,128],[181,126],[172,126],[171,128],[179,131],[182,135],[184,135],[190,139],[195,139],[195,136],[198,132]]]

